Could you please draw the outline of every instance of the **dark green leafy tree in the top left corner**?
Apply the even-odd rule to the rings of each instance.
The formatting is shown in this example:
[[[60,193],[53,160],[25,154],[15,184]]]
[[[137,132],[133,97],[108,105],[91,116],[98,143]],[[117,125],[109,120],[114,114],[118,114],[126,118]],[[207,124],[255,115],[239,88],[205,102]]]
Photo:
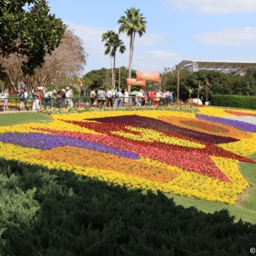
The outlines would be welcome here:
[[[44,56],[58,47],[65,29],[61,19],[49,14],[45,0],[0,3],[0,55],[17,55],[23,73],[42,67]]]

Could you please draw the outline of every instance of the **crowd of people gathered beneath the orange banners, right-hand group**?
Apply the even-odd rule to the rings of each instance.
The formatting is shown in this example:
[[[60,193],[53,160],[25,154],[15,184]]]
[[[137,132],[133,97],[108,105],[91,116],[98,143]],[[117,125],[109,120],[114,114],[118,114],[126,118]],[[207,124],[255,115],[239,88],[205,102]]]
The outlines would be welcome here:
[[[131,99],[131,100],[130,100]],[[129,102],[131,101],[131,102]],[[136,95],[129,96],[128,90],[105,90],[102,87],[96,92],[90,91],[90,105],[94,107],[121,107],[121,106],[159,106],[167,105],[173,102],[172,91],[150,90],[148,93],[141,89]]]

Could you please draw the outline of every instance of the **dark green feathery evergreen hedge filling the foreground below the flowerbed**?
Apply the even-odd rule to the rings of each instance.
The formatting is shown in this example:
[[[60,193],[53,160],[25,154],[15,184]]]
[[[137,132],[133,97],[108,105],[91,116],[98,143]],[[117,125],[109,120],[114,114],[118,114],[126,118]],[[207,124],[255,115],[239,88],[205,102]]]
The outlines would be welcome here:
[[[0,255],[248,255],[256,225],[0,159]]]

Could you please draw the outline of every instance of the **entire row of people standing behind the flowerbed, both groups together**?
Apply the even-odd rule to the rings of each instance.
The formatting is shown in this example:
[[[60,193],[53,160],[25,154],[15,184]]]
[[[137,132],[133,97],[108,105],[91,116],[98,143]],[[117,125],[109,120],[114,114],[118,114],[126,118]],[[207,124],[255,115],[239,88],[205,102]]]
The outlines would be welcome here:
[[[9,90],[5,89],[0,93],[0,98],[3,102],[3,110],[9,110],[8,108],[8,97]],[[50,90],[45,91],[43,86],[35,87],[32,90],[30,96],[28,95],[26,88],[20,87],[20,110],[29,110],[28,101],[32,102],[32,110],[41,110],[42,102],[44,103],[44,108],[73,108],[73,90],[70,86],[66,89],[61,89],[59,91]],[[172,91],[160,91],[160,90],[149,90],[146,92],[141,89],[137,94],[129,95],[128,90],[115,90],[108,89],[103,90],[101,87],[99,90],[92,89],[90,91],[90,105],[94,107],[126,107],[126,106],[158,106],[167,105],[172,103],[173,96]],[[55,104],[54,104],[55,102]]]

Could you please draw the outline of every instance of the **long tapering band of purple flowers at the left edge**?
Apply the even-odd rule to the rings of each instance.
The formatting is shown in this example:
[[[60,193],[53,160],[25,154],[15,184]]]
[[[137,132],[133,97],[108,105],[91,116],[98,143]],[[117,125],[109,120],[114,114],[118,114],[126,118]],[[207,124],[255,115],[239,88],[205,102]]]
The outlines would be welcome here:
[[[77,148],[86,148],[102,153],[119,155],[129,159],[140,158],[138,154],[133,154],[122,149],[112,148],[100,143],[93,143],[79,138],[67,137],[64,135],[53,135],[36,132],[7,132],[0,134],[0,141],[3,143],[11,143],[26,148],[50,149],[63,146],[71,146]]]

